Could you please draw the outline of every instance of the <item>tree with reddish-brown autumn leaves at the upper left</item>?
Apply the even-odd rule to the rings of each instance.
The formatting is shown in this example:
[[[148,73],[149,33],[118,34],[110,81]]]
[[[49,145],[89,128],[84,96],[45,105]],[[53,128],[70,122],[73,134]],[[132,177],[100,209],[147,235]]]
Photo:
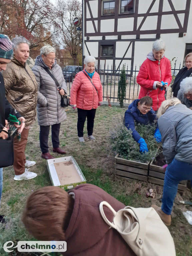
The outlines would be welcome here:
[[[0,32],[26,37],[30,48],[42,46],[57,34],[56,15],[49,0],[0,0]]]

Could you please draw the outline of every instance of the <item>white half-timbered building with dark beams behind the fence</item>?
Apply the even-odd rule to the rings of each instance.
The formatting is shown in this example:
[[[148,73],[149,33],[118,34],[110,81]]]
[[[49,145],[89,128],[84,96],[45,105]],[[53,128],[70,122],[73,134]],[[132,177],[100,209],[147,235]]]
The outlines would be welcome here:
[[[84,0],[84,55],[113,69],[139,65],[153,41],[166,43],[165,56],[177,58],[192,51],[191,0]]]

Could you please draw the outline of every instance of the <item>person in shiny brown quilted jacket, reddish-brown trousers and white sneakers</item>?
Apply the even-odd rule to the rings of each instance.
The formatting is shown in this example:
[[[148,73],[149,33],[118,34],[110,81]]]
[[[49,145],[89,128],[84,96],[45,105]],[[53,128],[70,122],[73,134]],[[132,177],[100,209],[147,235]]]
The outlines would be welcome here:
[[[28,180],[37,176],[29,172],[27,167],[33,166],[34,161],[25,157],[25,148],[30,126],[35,122],[37,105],[37,83],[35,76],[26,61],[29,57],[30,42],[23,36],[15,37],[14,58],[3,71],[6,96],[13,108],[25,118],[25,129],[21,133],[21,141],[14,139],[14,180]]]

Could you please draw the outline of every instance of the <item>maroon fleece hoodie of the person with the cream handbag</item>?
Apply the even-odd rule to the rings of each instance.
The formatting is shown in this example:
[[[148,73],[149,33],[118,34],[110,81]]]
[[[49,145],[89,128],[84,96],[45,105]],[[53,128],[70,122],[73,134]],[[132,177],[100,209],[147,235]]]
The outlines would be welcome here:
[[[107,201],[116,211],[125,207],[101,188],[82,184],[68,192],[75,203],[69,226],[65,232],[67,251],[65,256],[136,256],[121,235],[104,222],[99,204]],[[104,206],[106,217],[113,214]]]

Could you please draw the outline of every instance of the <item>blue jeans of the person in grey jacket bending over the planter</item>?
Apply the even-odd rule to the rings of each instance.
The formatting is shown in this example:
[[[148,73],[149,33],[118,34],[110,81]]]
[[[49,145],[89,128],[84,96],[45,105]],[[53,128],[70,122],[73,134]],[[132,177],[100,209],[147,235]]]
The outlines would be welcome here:
[[[178,184],[182,180],[192,180],[192,164],[176,160],[168,164],[165,172],[163,186],[163,199],[161,210],[171,214],[173,202],[177,194]]]

